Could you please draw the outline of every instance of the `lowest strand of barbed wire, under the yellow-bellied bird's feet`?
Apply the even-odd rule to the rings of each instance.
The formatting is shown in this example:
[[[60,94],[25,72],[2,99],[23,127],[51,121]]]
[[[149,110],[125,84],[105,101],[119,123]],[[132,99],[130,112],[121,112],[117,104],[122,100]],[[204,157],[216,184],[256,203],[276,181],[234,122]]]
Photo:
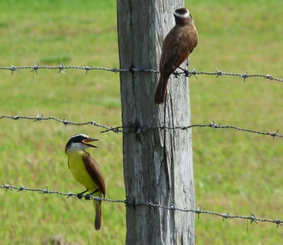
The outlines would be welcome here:
[[[206,214],[206,215],[215,215],[215,216],[219,216],[223,218],[224,220],[228,220],[228,219],[243,219],[243,220],[250,220],[250,224],[255,222],[256,224],[258,224],[258,222],[270,222],[270,223],[275,223],[277,224],[277,228],[280,225],[283,225],[283,220],[280,220],[276,217],[275,220],[272,219],[262,219],[259,217],[255,217],[255,215],[252,213],[250,216],[243,216],[243,215],[229,215],[229,212],[227,213],[219,213],[219,212],[212,212],[212,211],[206,211],[206,210],[202,210],[201,205],[197,208],[197,210],[186,210],[186,209],[182,209],[179,207],[175,207],[174,204],[172,204],[171,206],[165,206],[165,205],[158,205],[155,203],[152,203],[151,201],[149,202],[144,202],[144,203],[136,203],[135,200],[129,200],[127,197],[125,200],[114,200],[114,199],[110,199],[110,198],[98,198],[95,197],[93,195],[81,195],[81,194],[74,194],[71,192],[68,193],[63,193],[61,191],[57,191],[57,190],[49,190],[46,186],[45,189],[40,189],[40,188],[26,188],[25,186],[10,186],[6,183],[3,183],[3,186],[0,186],[0,188],[4,188],[6,189],[6,191],[8,190],[17,190],[18,192],[25,192],[25,191],[30,191],[30,192],[38,192],[41,194],[57,194],[57,195],[64,195],[67,196],[67,198],[77,198],[78,195],[80,196],[80,198],[84,197],[85,200],[101,200],[101,201],[106,201],[106,202],[111,202],[111,203],[124,203],[125,205],[130,205],[132,207],[136,207],[136,206],[149,206],[149,207],[157,207],[157,208],[161,208],[164,210],[171,210],[171,211],[179,211],[179,212],[195,212],[195,214],[197,214],[198,218],[200,218],[200,214]]]

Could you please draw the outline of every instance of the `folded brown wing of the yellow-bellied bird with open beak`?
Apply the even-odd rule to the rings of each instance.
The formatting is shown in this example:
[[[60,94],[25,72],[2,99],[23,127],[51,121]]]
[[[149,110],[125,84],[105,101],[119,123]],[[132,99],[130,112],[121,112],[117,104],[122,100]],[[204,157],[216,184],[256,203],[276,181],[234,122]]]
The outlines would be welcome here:
[[[88,171],[88,174],[91,176],[94,183],[96,183],[96,186],[98,186],[98,188],[101,190],[103,196],[105,196],[105,183],[103,180],[102,173],[99,169],[98,163],[88,152],[86,152],[85,156],[83,156],[83,162],[86,166],[86,171]]]

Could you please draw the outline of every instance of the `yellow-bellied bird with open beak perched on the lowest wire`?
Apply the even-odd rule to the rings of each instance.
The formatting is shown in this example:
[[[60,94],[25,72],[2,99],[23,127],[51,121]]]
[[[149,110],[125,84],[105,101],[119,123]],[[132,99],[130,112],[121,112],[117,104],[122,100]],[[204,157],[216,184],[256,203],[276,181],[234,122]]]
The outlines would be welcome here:
[[[90,199],[89,195],[94,195],[98,198],[105,197],[105,183],[99,166],[93,156],[85,151],[85,149],[89,147],[96,148],[94,145],[88,143],[97,140],[98,139],[93,139],[83,134],[73,135],[65,147],[71,173],[73,173],[76,181],[86,188],[85,191],[77,195],[79,199],[81,199],[83,193],[87,191],[90,194],[86,195],[86,199]],[[94,227],[98,230],[101,225],[101,200],[93,199],[93,205],[96,209]]]

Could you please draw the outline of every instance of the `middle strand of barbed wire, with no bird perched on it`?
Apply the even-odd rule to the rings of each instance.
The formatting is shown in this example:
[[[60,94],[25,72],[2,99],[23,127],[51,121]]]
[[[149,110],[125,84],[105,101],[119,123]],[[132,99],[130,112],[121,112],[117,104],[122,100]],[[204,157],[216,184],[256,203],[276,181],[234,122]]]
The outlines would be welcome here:
[[[135,132],[137,134],[140,134],[141,132],[144,132],[146,130],[188,130],[189,128],[192,127],[211,127],[213,130],[216,129],[226,129],[226,128],[230,128],[233,130],[239,130],[239,131],[243,131],[243,132],[250,132],[250,133],[255,133],[258,135],[269,135],[271,137],[273,137],[273,139],[275,137],[283,137],[283,135],[279,135],[278,132],[279,130],[277,130],[277,132],[260,132],[260,131],[256,131],[256,130],[248,130],[245,128],[241,128],[241,127],[236,127],[236,126],[232,126],[232,125],[221,125],[221,123],[216,124],[213,120],[212,123],[208,123],[208,124],[195,124],[195,125],[187,125],[187,126],[178,126],[178,127],[168,127],[166,126],[166,124],[163,124],[161,126],[153,126],[153,127],[142,127],[141,125],[139,125],[139,123],[134,123],[131,124],[129,123],[129,125],[127,126],[118,126],[118,127],[108,127],[106,125],[101,125],[99,123],[96,123],[95,121],[89,121],[89,122],[85,122],[85,123],[74,123],[74,122],[70,122],[68,120],[65,120],[65,118],[63,120],[58,119],[58,118],[54,118],[54,117],[48,117],[45,118],[43,117],[43,115],[37,115],[36,117],[27,117],[27,116],[23,116],[23,115],[1,115],[0,116],[0,120],[3,118],[8,118],[8,119],[13,119],[13,120],[33,120],[33,122],[40,122],[42,123],[43,120],[55,120],[59,123],[63,123],[65,125],[65,127],[71,126],[71,125],[77,125],[77,126],[82,126],[82,125],[93,125],[96,127],[103,127],[106,130],[101,131],[101,133],[104,132],[115,132],[115,133],[119,133],[119,132]]]

